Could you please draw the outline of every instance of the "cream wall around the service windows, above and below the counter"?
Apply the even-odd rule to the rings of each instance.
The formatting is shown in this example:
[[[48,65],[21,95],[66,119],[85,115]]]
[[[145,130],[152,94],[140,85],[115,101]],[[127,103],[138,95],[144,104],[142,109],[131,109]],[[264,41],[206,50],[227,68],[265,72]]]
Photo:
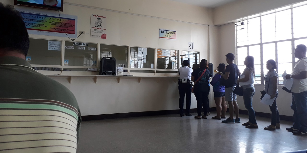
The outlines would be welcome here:
[[[0,2],[13,5],[13,1],[9,0]],[[200,52],[200,58],[208,58],[208,26],[204,24],[209,24],[210,19],[212,23],[212,18],[209,18],[212,9],[168,0],[97,0],[80,6],[82,3],[83,0],[67,0],[64,12],[61,12],[78,16],[77,31],[85,31],[85,34],[76,41],[176,50],[187,50],[188,42],[194,42],[194,50]],[[108,10],[93,8],[97,6]],[[106,40],[90,38],[91,14],[107,17]],[[176,30],[177,40],[159,39],[159,28]],[[63,43],[69,40],[66,37],[29,36],[62,40]],[[73,78],[71,84],[67,79],[55,80],[74,93],[83,116],[179,109],[178,84],[174,83],[173,78],[162,78],[160,82],[145,78],[140,83],[137,79],[122,79],[118,83],[116,79],[100,78],[96,84],[93,79]],[[191,108],[196,108],[195,96],[192,96]]]

